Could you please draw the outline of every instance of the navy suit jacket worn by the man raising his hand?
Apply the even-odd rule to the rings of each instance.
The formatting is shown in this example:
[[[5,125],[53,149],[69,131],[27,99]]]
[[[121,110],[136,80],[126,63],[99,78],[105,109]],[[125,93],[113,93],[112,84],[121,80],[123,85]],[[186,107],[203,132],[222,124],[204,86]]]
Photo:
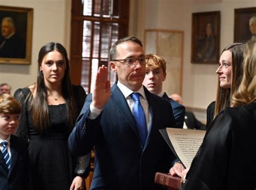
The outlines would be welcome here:
[[[84,155],[95,146],[95,171],[91,189],[158,189],[156,172],[168,172],[174,154],[159,129],[175,126],[168,101],[144,87],[152,116],[152,125],[143,148],[136,123],[123,93],[116,84],[102,113],[89,119],[92,96],[89,94],[68,145],[76,155]]]

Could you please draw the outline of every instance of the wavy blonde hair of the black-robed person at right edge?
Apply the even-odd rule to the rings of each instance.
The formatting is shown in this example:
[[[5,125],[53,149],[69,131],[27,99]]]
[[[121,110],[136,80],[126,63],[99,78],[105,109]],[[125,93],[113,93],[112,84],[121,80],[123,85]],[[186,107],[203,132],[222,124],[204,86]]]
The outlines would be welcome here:
[[[232,106],[245,105],[256,99],[256,43],[250,40],[245,48],[244,75],[232,97]]]

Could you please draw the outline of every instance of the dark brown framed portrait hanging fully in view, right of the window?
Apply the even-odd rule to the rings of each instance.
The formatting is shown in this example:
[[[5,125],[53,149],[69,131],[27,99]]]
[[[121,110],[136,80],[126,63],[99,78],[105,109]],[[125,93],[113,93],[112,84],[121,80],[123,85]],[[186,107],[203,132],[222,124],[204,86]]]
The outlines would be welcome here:
[[[220,11],[192,13],[191,63],[218,63]]]

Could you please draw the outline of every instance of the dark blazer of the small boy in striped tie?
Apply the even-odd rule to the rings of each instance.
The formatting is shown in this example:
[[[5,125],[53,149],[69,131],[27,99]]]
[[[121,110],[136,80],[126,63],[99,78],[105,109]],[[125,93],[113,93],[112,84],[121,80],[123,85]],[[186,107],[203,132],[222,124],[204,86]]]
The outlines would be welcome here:
[[[3,154],[0,151],[0,189],[31,189],[28,146],[25,141],[14,135],[11,135],[10,142],[10,171],[8,171]]]

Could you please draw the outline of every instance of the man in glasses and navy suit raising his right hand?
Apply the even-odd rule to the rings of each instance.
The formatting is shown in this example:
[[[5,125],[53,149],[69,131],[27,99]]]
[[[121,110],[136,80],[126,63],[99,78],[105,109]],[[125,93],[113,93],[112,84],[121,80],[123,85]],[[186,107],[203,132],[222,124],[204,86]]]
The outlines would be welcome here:
[[[119,39],[110,60],[118,82],[110,89],[107,68],[99,67],[93,93],[70,134],[70,151],[84,155],[95,146],[91,189],[160,189],[154,175],[168,172],[175,159],[159,133],[176,126],[171,105],[142,85],[147,58],[139,39]],[[135,94],[139,100],[133,100]]]

